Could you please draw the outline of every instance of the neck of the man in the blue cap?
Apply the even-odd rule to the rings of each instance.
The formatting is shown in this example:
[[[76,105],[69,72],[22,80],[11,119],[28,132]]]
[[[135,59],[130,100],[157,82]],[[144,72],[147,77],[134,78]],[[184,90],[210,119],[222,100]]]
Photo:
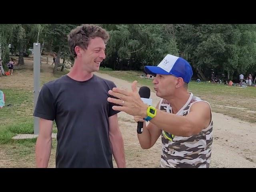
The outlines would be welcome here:
[[[190,94],[188,92],[181,92],[172,98],[166,99],[172,106],[172,113],[176,114],[188,101]]]

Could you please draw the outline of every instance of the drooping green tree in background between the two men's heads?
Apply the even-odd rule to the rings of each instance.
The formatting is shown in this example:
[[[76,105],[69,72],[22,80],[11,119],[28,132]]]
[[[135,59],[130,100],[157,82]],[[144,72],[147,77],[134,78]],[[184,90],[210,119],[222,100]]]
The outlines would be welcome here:
[[[164,35],[161,24],[101,24],[108,30],[104,66],[114,70],[142,70],[157,65],[166,54],[178,56],[176,40]]]

